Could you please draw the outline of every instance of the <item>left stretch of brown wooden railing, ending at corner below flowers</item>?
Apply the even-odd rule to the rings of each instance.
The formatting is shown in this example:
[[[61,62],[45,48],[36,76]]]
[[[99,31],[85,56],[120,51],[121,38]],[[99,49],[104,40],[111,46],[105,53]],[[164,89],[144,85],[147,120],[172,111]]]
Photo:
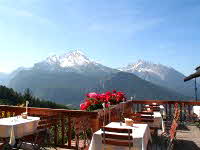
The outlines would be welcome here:
[[[17,116],[25,112],[25,108],[17,106],[0,105],[0,118]],[[80,110],[49,109],[49,108],[28,108],[31,116],[57,116],[53,118],[50,127],[53,130],[53,141],[56,146],[72,148],[73,121],[76,118],[89,118],[89,126],[94,131],[98,130],[98,112],[86,112]],[[55,121],[56,119],[56,121]],[[42,122],[43,120],[41,120]],[[67,137],[67,138],[66,138]],[[58,141],[60,138],[60,141]]]

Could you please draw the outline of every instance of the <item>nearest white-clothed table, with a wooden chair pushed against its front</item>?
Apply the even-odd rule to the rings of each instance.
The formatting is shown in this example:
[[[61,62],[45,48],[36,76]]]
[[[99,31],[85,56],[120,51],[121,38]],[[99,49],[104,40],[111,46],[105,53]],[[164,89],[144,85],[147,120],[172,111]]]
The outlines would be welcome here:
[[[146,150],[149,140],[151,141],[151,133],[150,133],[149,126],[147,124],[134,124],[133,127],[130,127],[130,126],[126,126],[125,123],[123,123],[122,126],[120,126],[119,122],[111,122],[106,127],[132,129],[133,130],[132,150]],[[129,149],[128,147],[103,145],[101,133],[102,131],[98,130],[97,132],[93,134],[89,150],[103,150],[104,146],[107,147],[108,149],[115,149],[115,150]],[[116,134],[121,134],[121,133],[116,133]]]

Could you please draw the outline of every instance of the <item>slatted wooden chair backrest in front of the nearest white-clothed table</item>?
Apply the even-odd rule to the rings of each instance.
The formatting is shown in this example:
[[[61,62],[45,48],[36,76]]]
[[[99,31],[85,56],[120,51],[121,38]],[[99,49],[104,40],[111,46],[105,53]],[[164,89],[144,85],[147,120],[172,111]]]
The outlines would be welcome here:
[[[133,146],[132,129],[102,127],[102,143],[115,146]],[[116,134],[123,133],[123,134]],[[124,134],[126,133],[126,134]]]

